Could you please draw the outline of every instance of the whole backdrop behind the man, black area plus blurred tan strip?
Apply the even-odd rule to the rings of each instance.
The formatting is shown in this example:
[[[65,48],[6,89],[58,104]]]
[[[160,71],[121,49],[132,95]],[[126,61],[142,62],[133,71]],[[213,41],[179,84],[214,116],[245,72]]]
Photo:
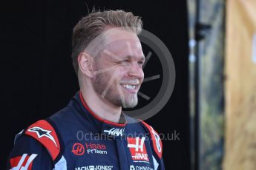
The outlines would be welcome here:
[[[256,1],[8,1],[1,10],[1,163],[14,136],[62,109],[79,90],[71,55],[72,28],[88,8],[142,16],[144,29],[174,60],[174,91],[146,120],[163,135],[165,169],[256,169]],[[142,44],[143,45],[143,44]],[[143,45],[145,46],[145,45]],[[152,52],[145,77],[161,69]],[[157,73],[158,72],[158,73]],[[151,98],[163,77],[142,84]],[[140,99],[140,107],[151,100]]]

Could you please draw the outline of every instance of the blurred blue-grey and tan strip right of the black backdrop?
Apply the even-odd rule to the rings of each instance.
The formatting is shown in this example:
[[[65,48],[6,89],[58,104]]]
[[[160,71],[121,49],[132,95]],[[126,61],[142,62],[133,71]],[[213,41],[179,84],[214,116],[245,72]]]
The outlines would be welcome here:
[[[256,1],[188,0],[188,13],[192,167],[256,169]]]

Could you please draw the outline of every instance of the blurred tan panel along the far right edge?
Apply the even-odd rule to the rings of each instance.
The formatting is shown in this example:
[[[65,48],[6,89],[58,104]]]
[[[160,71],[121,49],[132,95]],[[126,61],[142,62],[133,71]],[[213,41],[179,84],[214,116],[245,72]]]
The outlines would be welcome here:
[[[223,168],[256,169],[256,1],[227,1]]]

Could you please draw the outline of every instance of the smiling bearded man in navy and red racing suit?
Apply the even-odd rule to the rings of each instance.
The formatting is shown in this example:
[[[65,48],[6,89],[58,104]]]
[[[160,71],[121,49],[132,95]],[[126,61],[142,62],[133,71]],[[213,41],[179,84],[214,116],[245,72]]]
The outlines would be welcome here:
[[[122,10],[93,12],[73,28],[79,92],[64,109],[16,135],[7,169],[164,169],[162,143],[137,105],[145,57],[142,21]]]

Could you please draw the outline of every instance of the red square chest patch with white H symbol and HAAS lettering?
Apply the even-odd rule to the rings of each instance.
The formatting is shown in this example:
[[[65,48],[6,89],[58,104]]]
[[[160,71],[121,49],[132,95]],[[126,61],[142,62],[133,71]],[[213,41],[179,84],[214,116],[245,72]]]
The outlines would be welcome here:
[[[145,149],[145,137],[127,137],[128,148],[131,152],[132,160],[134,161],[147,161],[148,162],[148,153]]]

